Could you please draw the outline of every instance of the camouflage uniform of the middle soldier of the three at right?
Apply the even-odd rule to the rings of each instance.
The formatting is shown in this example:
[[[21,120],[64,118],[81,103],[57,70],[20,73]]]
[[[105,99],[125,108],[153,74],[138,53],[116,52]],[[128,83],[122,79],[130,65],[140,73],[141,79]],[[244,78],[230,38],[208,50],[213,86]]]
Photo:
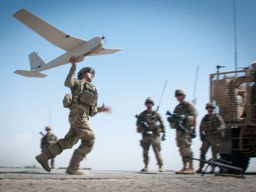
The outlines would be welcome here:
[[[186,117],[192,117],[192,119],[195,119],[197,116],[197,112],[195,111],[195,108],[193,104],[187,101],[183,101],[182,103],[178,104],[175,109],[174,113],[177,115],[184,115],[184,121],[187,120]],[[187,123],[186,128],[192,133],[192,123]],[[189,164],[189,169],[193,169],[193,161],[192,159],[189,159],[189,157],[193,157],[193,152],[190,149],[190,146],[192,144],[192,140],[190,137],[190,133],[184,133],[183,131],[177,129],[177,124],[173,123],[171,125],[171,128],[176,128],[176,141],[177,141],[177,147],[179,148],[179,152],[182,156],[182,162],[184,164],[183,169],[180,172],[183,172],[184,170],[187,170],[187,164]]]

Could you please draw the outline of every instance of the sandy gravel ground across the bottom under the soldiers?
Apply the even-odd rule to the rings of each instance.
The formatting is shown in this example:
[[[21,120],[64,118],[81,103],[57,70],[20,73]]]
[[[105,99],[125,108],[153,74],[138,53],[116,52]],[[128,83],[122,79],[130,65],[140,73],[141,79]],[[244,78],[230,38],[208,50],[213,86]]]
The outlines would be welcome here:
[[[256,175],[245,178],[173,172],[89,170],[67,175],[65,170],[0,168],[0,191],[256,191]]]

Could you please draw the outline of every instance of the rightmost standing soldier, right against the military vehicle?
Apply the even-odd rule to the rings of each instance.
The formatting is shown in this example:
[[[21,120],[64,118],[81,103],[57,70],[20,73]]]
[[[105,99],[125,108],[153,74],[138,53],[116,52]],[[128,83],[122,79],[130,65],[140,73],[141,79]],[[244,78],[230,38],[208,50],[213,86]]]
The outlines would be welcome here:
[[[199,130],[200,138],[203,142],[202,147],[200,148],[200,159],[205,160],[205,154],[207,154],[209,147],[211,147],[213,158],[217,159],[217,154],[220,149],[220,138],[224,138],[224,130],[226,126],[222,117],[213,113],[215,107],[211,102],[206,104],[205,109],[208,111],[208,114],[203,117]],[[200,161],[197,173],[202,173],[203,166],[204,163]],[[214,167],[212,168],[211,173],[214,173]]]

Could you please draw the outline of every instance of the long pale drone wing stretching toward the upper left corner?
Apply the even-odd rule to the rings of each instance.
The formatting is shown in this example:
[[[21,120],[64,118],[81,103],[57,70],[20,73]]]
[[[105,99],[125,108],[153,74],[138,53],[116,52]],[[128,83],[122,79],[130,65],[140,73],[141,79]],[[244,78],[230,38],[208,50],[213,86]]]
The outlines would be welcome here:
[[[58,28],[53,27],[53,25],[28,12],[28,10],[20,9],[13,16],[50,43],[66,51],[87,42],[63,33]]]

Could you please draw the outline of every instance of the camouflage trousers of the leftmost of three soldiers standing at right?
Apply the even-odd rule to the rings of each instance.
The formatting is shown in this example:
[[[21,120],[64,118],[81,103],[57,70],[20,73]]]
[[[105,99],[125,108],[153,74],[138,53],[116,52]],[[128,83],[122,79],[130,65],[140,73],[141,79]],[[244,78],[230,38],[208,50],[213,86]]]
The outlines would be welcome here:
[[[143,160],[145,165],[148,164],[149,162],[149,157],[148,157],[148,150],[150,148],[150,144],[152,145],[152,148],[155,152],[156,160],[158,162],[158,165],[163,165],[163,159],[160,154],[160,142],[159,142],[159,135],[158,134],[153,134],[153,142],[151,141],[150,136],[143,136],[142,140],[140,140],[140,145],[143,148]]]

